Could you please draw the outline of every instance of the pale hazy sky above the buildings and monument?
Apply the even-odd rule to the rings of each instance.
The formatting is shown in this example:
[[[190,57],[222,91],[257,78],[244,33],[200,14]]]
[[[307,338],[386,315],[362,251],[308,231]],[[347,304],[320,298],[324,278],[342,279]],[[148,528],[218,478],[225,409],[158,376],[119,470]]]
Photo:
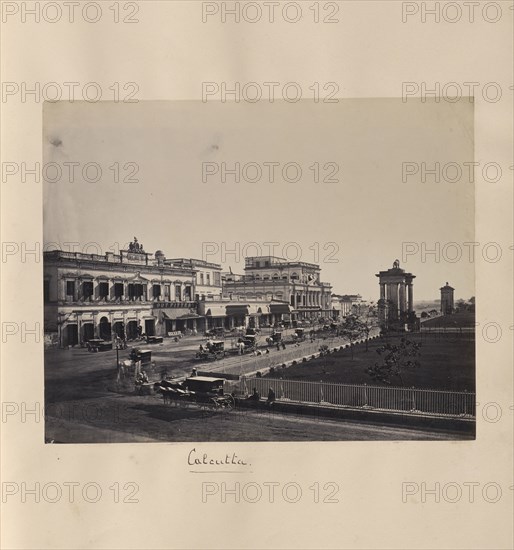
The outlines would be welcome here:
[[[319,263],[322,280],[336,293],[377,299],[375,273],[398,258],[416,275],[415,300],[437,298],[446,281],[456,298],[475,294],[474,265],[463,244],[474,241],[474,185],[467,173],[455,183],[435,183],[432,176],[422,183],[419,174],[402,182],[404,162],[433,168],[474,160],[468,101],[47,103],[43,140],[44,162],[64,170],[60,181],[45,184],[45,243],[78,242],[78,251],[98,243],[105,253],[137,236],[147,252],[160,249],[168,258],[201,258],[202,243],[212,243],[214,252],[204,259],[242,272],[242,254],[224,250],[267,254],[264,243],[274,241],[277,256],[285,247],[293,259],[300,249],[301,260]],[[74,182],[64,162],[80,163]],[[80,174],[89,162],[102,168],[98,183]],[[115,183],[109,169],[115,162],[121,178],[130,175],[123,165],[135,163],[138,182]],[[223,183],[218,172],[204,183],[204,162],[219,170],[222,163],[233,169],[236,162],[254,162],[261,180],[236,183],[227,176]],[[280,163],[273,183],[264,165],[270,162]],[[281,176],[288,162],[302,169],[297,183]],[[338,165],[333,177],[339,181],[315,183],[309,167],[316,162],[322,177],[333,166],[324,170],[326,163]],[[259,248],[248,246],[252,242]],[[419,252],[404,263],[406,242]],[[460,261],[447,261],[457,251],[445,248],[450,242],[462,250]],[[446,256],[422,257],[421,250],[436,243]]]

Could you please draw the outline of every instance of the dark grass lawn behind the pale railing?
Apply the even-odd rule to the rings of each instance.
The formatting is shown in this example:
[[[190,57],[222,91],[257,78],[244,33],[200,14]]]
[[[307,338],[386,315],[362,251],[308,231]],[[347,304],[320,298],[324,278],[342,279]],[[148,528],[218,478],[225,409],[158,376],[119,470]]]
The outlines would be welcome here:
[[[399,336],[389,337],[389,342],[399,340]],[[420,367],[406,371],[406,386],[443,390],[475,391],[475,338],[471,334],[410,334],[409,339],[421,342]],[[354,347],[354,357],[350,349],[338,351],[305,363],[279,369],[278,375],[290,380],[312,380],[339,384],[372,384],[375,382],[366,374],[367,367],[381,358],[376,352],[385,340],[376,339],[366,345]],[[399,386],[394,380],[392,385]]]

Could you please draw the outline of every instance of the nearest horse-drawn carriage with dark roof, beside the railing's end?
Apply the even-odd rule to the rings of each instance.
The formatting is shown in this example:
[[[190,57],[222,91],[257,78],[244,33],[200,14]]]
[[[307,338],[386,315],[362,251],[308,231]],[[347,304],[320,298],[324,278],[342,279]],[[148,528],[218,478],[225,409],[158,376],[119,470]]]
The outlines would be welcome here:
[[[184,382],[161,380],[154,388],[162,394],[164,403],[205,405],[214,409],[232,409],[235,399],[223,389],[224,379],[210,376],[191,376]]]

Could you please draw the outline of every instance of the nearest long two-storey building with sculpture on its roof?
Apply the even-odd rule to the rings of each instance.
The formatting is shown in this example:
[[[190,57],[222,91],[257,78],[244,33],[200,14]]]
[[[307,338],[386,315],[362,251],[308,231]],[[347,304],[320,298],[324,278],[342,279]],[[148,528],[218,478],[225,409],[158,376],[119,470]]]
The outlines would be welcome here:
[[[196,328],[192,265],[169,265],[137,241],[119,254],[44,254],[45,333],[61,347],[114,334],[166,335]]]

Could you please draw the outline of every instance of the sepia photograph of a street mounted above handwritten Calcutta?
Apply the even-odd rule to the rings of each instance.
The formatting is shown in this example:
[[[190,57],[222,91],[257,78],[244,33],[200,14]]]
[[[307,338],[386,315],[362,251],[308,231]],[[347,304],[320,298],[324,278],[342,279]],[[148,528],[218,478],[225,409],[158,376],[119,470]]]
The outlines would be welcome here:
[[[46,103],[45,441],[475,437],[473,103]]]

